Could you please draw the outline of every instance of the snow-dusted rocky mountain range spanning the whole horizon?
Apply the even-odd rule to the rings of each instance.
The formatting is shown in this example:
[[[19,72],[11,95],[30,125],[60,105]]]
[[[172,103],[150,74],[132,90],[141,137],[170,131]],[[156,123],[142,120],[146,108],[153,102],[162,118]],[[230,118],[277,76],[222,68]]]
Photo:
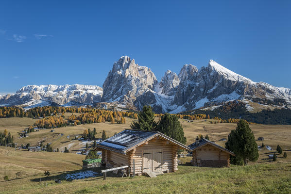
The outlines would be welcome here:
[[[168,70],[158,82],[150,68],[122,56],[113,64],[103,89],[78,84],[25,86],[16,94],[0,96],[0,105],[30,108],[51,103],[69,106],[102,102],[138,110],[151,105],[156,113],[178,113],[236,99],[290,108],[291,89],[251,81],[213,60],[200,69],[184,65],[178,76]]]

